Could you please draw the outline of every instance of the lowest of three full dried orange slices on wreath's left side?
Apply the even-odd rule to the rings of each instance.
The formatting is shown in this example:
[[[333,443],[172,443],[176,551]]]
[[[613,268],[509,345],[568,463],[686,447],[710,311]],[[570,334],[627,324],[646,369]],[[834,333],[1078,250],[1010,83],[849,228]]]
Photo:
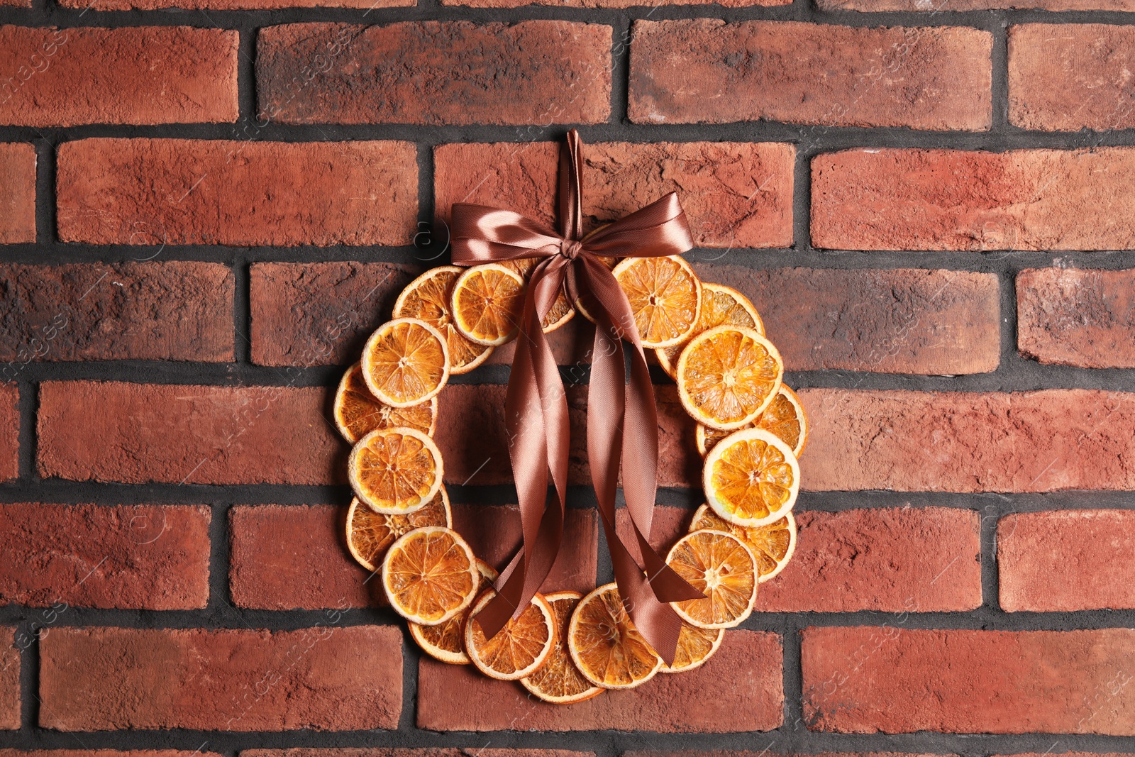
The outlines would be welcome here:
[[[404,533],[382,558],[387,600],[407,621],[422,625],[444,623],[468,607],[480,581],[473,550],[444,525]]]

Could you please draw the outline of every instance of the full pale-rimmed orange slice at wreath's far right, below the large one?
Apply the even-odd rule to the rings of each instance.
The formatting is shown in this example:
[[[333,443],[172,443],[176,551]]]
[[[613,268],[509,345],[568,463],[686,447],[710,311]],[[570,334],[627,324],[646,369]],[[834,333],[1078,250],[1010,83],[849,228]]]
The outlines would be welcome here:
[[[800,494],[800,464],[788,445],[764,429],[718,441],[701,469],[706,502],[738,525],[765,525],[784,515]]]

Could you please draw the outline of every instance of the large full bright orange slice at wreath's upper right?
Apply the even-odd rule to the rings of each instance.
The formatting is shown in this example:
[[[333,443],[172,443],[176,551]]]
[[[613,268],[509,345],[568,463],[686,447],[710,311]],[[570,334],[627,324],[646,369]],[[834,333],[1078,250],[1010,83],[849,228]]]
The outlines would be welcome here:
[[[674,381],[693,420],[738,429],[772,403],[783,376],[784,363],[768,339],[745,326],[718,326],[686,345]]]

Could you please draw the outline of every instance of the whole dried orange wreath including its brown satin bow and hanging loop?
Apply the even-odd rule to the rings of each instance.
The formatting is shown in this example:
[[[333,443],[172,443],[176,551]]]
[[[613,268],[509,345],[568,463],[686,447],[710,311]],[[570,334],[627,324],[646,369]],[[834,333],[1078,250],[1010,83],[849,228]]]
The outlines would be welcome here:
[[[573,129],[561,151],[558,234],[508,210],[453,205],[456,264],[402,292],[335,399],[336,423],[354,444],[351,554],[381,572],[390,606],[427,654],[519,680],[557,704],[691,670],[716,651],[796,547],[791,510],[807,437],[753,304],[701,283],[680,256],[693,244],[675,194],[582,235],[581,148]],[[615,574],[586,597],[538,590],[563,533],[569,446],[545,334],[575,313],[596,325],[587,448]],[[511,339],[505,415],[523,544],[498,575],[452,529],[430,435],[449,376]],[[658,439],[645,348],[678,384],[705,455],[707,504],[665,560],[646,538]],[[615,532],[620,468],[632,538]]]

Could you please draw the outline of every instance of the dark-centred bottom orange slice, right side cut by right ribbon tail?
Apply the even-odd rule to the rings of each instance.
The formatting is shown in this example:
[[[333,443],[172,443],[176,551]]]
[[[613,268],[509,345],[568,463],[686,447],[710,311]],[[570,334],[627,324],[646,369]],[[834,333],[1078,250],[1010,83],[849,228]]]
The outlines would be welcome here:
[[[662,657],[634,628],[614,583],[580,599],[568,624],[575,668],[604,689],[633,689],[654,678]]]

